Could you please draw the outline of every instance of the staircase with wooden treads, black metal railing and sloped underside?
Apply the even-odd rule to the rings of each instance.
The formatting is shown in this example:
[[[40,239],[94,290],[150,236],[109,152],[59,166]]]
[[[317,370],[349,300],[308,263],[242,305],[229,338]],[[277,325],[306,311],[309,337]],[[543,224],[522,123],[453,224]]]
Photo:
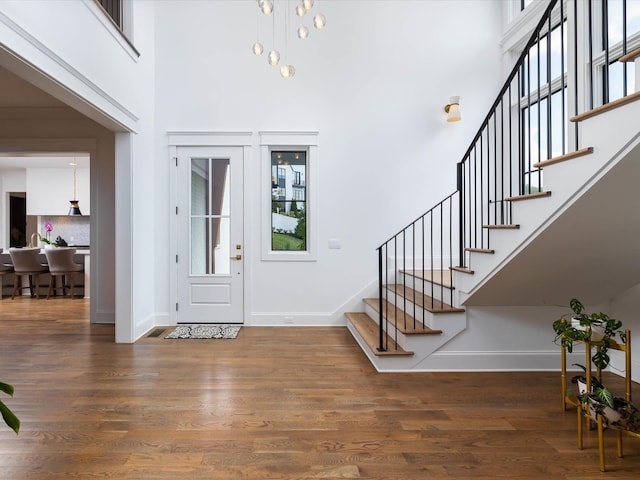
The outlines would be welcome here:
[[[378,297],[363,299],[361,312],[346,314],[350,332],[378,371],[442,368],[430,357],[467,328],[468,310],[476,306],[562,305],[574,296],[601,301],[640,284],[640,270],[628,261],[640,253],[640,223],[622,218],[630,206],[640,205],[640,94],[614,101],[604,94],[596,108],[588,101],[565,105],[563,100],[562,112],[575,114],[562,128],[559,155],[551,153],[556,141],[551,128],[550,138],[538,138],[538,150],[546,141],[548,155],[537,159],[531,147],[522,148],[536,140],[531,129],[514,129],[511,120],[504,128],[504,112],[514,104],[513,85],[523,83],[523,65],[549,30],[550,18],[575,22],[578,15],[564,12],[562,2],[549,3],[458,164],[458,190],[379,247]],[[593,27],[585,28],[593,34]],[[577,37],[567,40],[567,49],[572,42]],[[620,62],[639,61],[640,49],[626,53],[626,39],[610,49],[619,52]],[[564,85],[577,92],[576,99],[593,103],[593,68],[587,85],[577,76]],[[538,79],[536,96],[542,98],[545,88],[548,94],[548,80],[545,87]],[[525,83],[531,85],[531,78]],[[532,124],[522,113],[528,108],[531,115],[531,93],[527,96],[517,125]],[[550,119],[550,105],[547,113]],[[565,151],[564,145],[572,149]],[[603,202],[610,209],[599,208]],[[605,252],[612,235],[620,239],[616,251]],[[552,285],[549,275],[556,280]]]

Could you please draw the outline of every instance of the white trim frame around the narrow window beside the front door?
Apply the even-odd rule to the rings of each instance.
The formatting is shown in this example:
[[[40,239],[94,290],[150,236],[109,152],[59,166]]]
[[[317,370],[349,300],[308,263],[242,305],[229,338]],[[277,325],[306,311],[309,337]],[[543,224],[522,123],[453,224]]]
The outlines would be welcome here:
[[[276,262],[315,262],[317,261],[317,164],[318,164],[318,132],[259,132],[260,165],[261,165],[261,251],[263,261]],[[306,215],[307,241],[306,250],[272,250],[271,227],[271,152],[273,151],[305,151],[306,167]]]

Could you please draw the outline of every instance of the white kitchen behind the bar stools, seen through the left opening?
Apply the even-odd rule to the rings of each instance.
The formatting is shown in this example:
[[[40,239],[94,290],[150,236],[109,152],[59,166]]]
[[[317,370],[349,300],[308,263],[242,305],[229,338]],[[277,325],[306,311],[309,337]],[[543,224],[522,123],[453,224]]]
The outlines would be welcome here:
[[[74,261],[84,266],[76,280],[76,298],[89,298],[90,277],[90,170],[86,153],[0,156],[0,265],[11,263],[9,248],[73,247]],[[42,284],[48,284],[42,275]],[[3,297],[10,297],[13,274],[0,276]],[[23,281],[26,282],[26,278]],[[41,287],[41,298],[46,296]],[[28,295],[29,290],[23,290]]]

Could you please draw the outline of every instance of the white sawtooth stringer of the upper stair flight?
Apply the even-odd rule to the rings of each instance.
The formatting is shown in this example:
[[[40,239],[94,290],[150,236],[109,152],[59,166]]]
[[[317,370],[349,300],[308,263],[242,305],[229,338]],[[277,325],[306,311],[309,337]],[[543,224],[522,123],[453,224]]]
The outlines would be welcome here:
[[[550,196],[514,202],[513,218],[520,228],[492,231],[493,254],[469,253],[468,267],[473,275],[454,272],[458,305],[477,304],[475,297],[498,272],[543,235],[618,162],[635,154],[634,149],[640,147],[640,132],[634,120],[638,115],[640,102],[632,102],[581,123],[581,138],[585,139],[582,144],[593,147],[593,153],[546,167],[544,189],[551,192]]]

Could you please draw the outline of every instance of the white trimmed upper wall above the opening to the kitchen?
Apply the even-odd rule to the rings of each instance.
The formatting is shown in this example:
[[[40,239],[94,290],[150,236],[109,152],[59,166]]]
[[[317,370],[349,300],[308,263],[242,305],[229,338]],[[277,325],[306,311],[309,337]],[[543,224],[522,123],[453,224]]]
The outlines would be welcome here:
[[[132,88],[139,79],[138,53],[97,2],[3,1],[0,38],[8,68],[102,125],[135,128],[144,99],[144,89]]]

